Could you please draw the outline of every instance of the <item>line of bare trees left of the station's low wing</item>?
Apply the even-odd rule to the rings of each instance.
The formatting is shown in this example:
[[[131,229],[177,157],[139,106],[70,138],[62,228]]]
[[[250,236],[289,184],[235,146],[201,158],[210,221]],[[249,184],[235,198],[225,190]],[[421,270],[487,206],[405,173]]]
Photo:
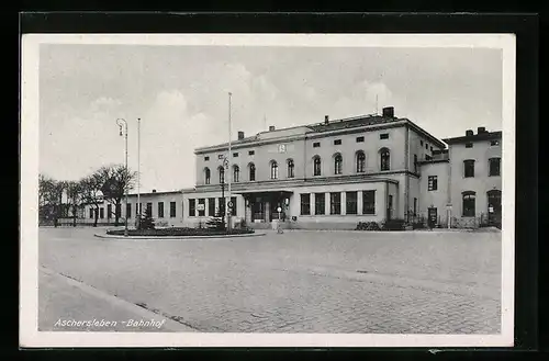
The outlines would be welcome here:
[[[122,165],[103,166],[78,181],[55,180],[45,174],[38,176],[38,219],[41,224],[53,223],[59,218],[72,217],[76,227],[78,211],[85,205],[94,208],[93,226],[97,227],[99,207],[103,201],[114,204],[114,225],[119,225],[122,202],[134,188],[137,172]],[[64,202],[65,194],[65,202]]]

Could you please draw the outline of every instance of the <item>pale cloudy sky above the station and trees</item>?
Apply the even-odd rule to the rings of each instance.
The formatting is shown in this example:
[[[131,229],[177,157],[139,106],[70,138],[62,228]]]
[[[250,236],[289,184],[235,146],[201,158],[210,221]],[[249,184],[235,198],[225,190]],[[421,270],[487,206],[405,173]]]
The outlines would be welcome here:
[[[42,44],[40,172],[78,180],[124,163],[141,191],[191,188],[197,147],[394,106],[438,138],[502,129],[502,52]]]

